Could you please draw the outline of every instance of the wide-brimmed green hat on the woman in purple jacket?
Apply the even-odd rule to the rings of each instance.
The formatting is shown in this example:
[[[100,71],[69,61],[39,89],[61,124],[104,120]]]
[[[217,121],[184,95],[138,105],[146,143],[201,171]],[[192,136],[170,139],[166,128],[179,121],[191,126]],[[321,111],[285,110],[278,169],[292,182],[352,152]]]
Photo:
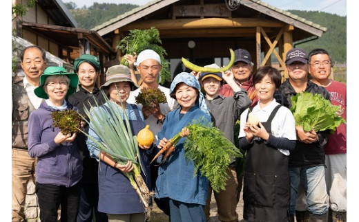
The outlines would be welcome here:
[[[48,76],[59,76],[59,75],[66,75],[70,78],[70,85],[68,86],[68,93],[66,93],[66,98],[70,96],[72,93],[75,93],[77,89],[77,83],[79,82],[79,77],[77,74],[68,73],[64,67],[54,67],[50,66],[45,69],[43,74],[40,76],[40,84],[34,92],[35,95],[39,98],[48,98],[48,94],[46,94],[45,90],[43,90],[43,85],[45,85],[45,80]]]

